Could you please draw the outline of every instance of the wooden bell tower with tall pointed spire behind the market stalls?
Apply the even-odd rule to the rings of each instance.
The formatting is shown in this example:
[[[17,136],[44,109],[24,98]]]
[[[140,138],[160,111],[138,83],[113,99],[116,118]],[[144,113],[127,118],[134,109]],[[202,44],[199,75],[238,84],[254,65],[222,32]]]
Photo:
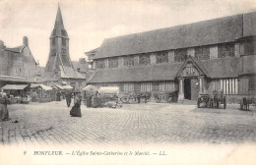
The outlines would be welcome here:
[[[58,6],[55,25],[50,35],[50,52],[44,69],[43,83],[50,86],[70,84],[74,88],[82,88],[86,85],[85,76],[77,72],[71,62],[69,39]]]

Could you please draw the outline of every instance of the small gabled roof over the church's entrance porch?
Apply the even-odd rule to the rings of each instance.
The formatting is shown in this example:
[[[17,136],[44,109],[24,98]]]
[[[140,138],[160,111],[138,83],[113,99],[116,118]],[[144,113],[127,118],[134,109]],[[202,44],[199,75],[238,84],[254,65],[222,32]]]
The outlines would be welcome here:
[[[200,60],[198,60],[197,58],[192,57],[192,56],[188,56],[186,61],[180,67],[176,77],[180,77],[181,76],[181,73],[186,68],[188,62],[191,62],[193,64],[193,66],[197,69],[197,71],[199,72],[200,75],[204,75],[206,77],[210,77],[210,74],[207,71],[207,69],[204,66],[204,64]]]

